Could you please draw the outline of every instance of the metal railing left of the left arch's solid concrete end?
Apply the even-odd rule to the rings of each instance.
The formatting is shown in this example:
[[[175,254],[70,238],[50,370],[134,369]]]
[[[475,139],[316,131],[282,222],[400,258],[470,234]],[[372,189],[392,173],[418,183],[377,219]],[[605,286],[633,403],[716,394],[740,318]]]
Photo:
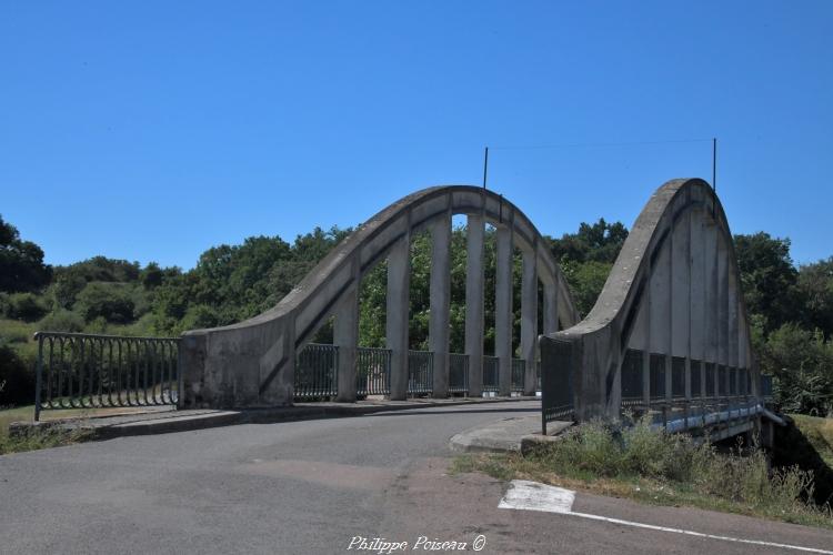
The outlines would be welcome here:
[[[54,408],[175,405],[179,339],[38,332],[34,420]]]

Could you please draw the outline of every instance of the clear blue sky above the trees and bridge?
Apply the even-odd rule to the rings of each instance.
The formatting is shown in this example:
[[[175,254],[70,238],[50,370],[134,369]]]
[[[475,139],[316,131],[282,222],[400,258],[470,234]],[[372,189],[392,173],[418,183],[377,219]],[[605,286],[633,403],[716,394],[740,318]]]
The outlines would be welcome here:
[[[191,268],[490,185],[548,234],[711,179],[735,233],[833,254],[833,2],[0,6],[0,213],[64,264]],[[500,147],[574,145],[555,149]],[[593,145],[586,145],[593,144]]]

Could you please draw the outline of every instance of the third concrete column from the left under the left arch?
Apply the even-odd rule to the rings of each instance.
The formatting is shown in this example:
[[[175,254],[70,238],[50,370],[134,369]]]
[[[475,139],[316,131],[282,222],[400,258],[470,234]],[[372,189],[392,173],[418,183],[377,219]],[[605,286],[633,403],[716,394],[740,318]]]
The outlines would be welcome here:
[[[449,396],[449,311],[451,310],[451,211],[431,225],[431,314],[429,349],[434,356],[432,395]]]

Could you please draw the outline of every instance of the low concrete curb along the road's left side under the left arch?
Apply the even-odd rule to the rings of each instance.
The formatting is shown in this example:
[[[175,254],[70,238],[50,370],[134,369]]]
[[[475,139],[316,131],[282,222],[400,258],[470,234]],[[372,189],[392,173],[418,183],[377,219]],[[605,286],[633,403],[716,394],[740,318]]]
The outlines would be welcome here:
[[[161,413],[159,417],[148,418],[148,414],[132,422],[108,423],[107,417],[74,418],[63,421],[14,422],[9,426],[12,436],[24,436],[37,428],[64,428],[89,434],[88,440],[112,440],[134,435],[169,434],[207,430],[238,424],[272,424],[299,420],[338,418],[361,416],[389,411],[409,411],[414,408],[489,405],[494,403],[536,401],[540,397],[491,397],[466,400],[420,400],[402,402],[380,402],[378,404],[315,404],[295,405],[275,408],[250,408],[241,411],[200,411],[198,414]],[[390,404],[389,404],[390,403]],[[129,416],[128,416],[129,417]]]

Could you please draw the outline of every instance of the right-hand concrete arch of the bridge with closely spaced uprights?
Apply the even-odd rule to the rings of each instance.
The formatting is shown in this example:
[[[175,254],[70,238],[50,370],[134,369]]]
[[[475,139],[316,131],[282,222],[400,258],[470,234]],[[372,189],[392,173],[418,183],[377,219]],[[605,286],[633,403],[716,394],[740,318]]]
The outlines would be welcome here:
[[[650,375],[658,356],[665,357],[669,398],[672,372],[683,363],[685,397],[692,395],[691,383],[705,392],[704,377],[692,382],[692,372],[700,371],[692,361],[747,369],[757,393],[732,234],[712,188],[700,179],[678,179],[658,189],[590,314],[570,329],[542,336],[540,346],[544,382],[561,372],[568,373],[563,383],[574,384],[573,398],[561,404],[571,401],[578,420],[619,417],[629,350],[644,353],[643,376]],[[643,386],[648,401],[652,392],[646,379]]]

